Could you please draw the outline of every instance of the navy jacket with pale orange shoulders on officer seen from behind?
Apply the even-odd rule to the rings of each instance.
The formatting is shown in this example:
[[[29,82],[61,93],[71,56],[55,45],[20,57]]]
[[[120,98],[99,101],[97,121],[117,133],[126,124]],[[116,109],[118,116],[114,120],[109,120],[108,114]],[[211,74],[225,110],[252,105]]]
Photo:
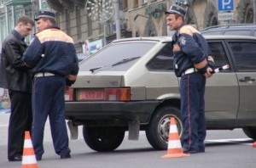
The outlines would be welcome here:
[[[23,59],[32,67],[33,75],[49,72],[57,76],[68,76],[77,75],[79,71],[73,39],[57,26],[38,32],[26,49]]]

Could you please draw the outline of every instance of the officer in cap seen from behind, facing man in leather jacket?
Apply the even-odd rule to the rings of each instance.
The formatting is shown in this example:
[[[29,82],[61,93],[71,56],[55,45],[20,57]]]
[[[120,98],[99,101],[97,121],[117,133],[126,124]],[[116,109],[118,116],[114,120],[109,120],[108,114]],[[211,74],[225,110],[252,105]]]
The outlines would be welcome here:
[[[39,11],[35,20],[38,33],[23,57],[34,76],[32,143],[37,160],[41,160],[44,154],[44,125],[49,116],[55,153],[61,159],[67,159],[71,156],[64,114],[64,91],[67,81],[68,85],[75,81],[79,61],[73,39],[55,25],[55,13]]]

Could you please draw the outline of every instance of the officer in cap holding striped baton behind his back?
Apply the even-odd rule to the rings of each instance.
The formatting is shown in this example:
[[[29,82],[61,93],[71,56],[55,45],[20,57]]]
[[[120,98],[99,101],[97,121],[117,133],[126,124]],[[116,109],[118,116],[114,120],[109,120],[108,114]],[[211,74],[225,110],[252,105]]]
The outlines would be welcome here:
[[[205,121],[205,85],[211,77],[213,59],[209,56],[206,39],[194,27],[184,24],[186,9],[173,4],[166,11],[166,22],[172,36],[173,65],[177,77],[181,77],[181,119],[183,122],[183,152],[205,152],[207,135]]]

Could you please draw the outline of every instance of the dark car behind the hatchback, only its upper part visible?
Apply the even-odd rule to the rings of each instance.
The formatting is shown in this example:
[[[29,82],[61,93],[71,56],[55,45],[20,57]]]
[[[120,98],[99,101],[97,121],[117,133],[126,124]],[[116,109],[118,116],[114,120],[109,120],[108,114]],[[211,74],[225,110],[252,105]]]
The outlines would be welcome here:
[[[201,31],[202,35],[256,36],[255,24],[214,25]]]

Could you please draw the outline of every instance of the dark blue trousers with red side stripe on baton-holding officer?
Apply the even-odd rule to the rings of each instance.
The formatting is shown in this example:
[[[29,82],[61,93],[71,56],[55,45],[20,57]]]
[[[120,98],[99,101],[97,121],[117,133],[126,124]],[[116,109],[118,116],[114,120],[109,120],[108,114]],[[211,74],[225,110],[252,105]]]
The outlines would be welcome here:
[[[204,152],[206,133],[206,78],[201,72],[181,77],[181,117],[183,121],[183,150]]]

